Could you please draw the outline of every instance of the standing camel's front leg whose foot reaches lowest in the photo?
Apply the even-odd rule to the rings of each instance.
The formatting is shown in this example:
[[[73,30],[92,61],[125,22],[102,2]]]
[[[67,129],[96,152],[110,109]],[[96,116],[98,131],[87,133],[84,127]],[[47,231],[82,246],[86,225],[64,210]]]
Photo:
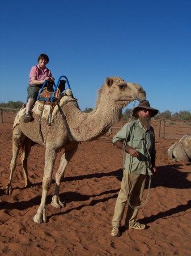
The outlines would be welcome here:
[[[47,222],[46,219],[46,197],[48,195],[48,191],[52,184],[52,172],[53,172],[53,166],[54,161],[56,159],[57,152],[52,147],[46,148],[45,152],[45,165],[44,165],[44,176],[43,176],[43,193],[41,197],[41,203],[39,206],[39,209],[37,210],[37,213],[35,217],[33,217],[33,220],[40,224],[42,222]]]

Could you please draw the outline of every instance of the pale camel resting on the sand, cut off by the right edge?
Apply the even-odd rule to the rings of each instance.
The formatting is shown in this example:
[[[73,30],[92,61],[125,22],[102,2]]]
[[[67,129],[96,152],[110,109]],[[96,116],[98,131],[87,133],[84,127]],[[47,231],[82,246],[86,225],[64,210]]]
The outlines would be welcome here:
[[[169,162],[191,161],[191,135],[184,135],[179,142],[168,148]]]

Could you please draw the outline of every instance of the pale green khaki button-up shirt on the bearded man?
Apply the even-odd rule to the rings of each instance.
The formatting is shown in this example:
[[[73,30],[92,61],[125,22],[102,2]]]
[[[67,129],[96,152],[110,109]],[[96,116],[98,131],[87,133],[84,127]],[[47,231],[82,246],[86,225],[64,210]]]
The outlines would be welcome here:
[[[139,152],[138,158],[132,157],[126,153],[125,157],[125,170],[133,174],[146,174],[152,175],[150,170],[151,154],[155,154],[155,134],[154,129],[150,130],[145,128],[139,122],[139,119],[126,123],[124,127],[113,137],[113,143],[116,141],[124,142]]]

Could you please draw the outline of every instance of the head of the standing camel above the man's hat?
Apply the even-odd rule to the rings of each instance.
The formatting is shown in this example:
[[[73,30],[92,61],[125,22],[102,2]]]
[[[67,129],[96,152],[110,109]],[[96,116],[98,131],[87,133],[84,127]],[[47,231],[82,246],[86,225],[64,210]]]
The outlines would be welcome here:
[[[138,84],[125,82],[118,76],[107,77],[104,86],[107,88],[107,95],[111,100],[120,105],[127,105],[133,100],[146,100],[146,92]]]

